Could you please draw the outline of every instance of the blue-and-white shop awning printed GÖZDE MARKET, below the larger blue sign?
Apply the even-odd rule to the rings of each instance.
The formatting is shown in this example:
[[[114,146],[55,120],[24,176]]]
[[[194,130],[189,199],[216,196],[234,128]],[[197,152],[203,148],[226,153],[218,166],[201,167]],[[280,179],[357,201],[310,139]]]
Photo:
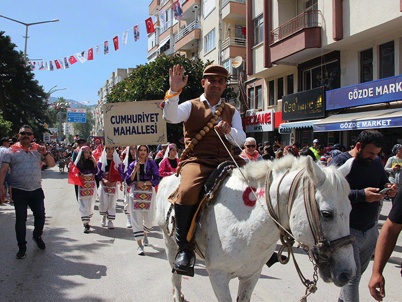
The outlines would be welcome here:
[[[402,126],[402,108],[336,114],[313,124],[314,132]]]

